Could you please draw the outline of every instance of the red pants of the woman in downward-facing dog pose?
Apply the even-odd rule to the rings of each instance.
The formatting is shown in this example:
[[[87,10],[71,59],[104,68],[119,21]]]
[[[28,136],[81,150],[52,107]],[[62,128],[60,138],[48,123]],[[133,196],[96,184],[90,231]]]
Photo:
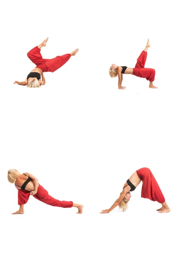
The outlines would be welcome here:
[[[141,197],[148,198],[152,201],[158,201],[163,204],[165,198],[160,190],[160,187],[148,168],[141,168],[137,172],[138,177],[142,180],[143,186],[141,190]]]

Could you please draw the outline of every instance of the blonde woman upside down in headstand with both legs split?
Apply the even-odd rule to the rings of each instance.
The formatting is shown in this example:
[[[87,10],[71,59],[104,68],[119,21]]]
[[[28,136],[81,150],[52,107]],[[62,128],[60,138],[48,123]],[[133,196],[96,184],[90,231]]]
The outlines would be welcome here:
[[[27,78],[23,82],[15,81],[14,84],[26,85],[27,87],[40,87],[42,84],[45,84],[44,72],[54,72],[62,67],[73,55],[75,56],[79,49],[74,50],[71,53],[57,56],[52,59],[43,59],[40,53],[41,47],[46,46],[48,38],[43,41],[39,46],[34,47],[31,51],[28,52],[28,58],[36,64],[37,66],[31,70],[31,73],[28,74]],[[42,76],[42,81],[41,81]]]

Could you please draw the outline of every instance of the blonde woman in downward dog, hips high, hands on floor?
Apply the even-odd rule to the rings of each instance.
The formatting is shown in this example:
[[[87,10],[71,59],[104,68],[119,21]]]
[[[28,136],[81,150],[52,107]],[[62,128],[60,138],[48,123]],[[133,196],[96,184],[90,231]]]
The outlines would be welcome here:
[[[165,202],[164,196],[160,190],[160,187],[158,186],[157,181],[155,180],[155,177],[152,175],[152,172],[148,168],[141,168],[134,172],[124,184],[120,197],[115,201],[112,207],[110,207],[110,209],[102,210],[100,213],[109,213],[118,205],[119,208],[124,212],[127,209],[127,203],[131,198],[130,191],[135,190],[141,180],[143,182],[141,197],[148,198],[152,201],[158,201],[158,203],[162,204],[162,207],[157,210],[158,212],[170,212],[170,209]]]

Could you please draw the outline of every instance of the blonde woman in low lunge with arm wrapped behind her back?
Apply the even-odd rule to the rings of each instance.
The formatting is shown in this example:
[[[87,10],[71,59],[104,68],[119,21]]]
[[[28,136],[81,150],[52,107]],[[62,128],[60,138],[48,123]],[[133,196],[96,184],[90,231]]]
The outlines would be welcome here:
[[[30,195],[33,195],[34,198],[39,201],[52,206],[63,208],[77,207],[77,213],[82,213],[82,204],[75,204],[72,201],[59,201],[51,197],[48,194],[48,191],[38,183],[38,179],[28,172],[20,174],[16,169],[10,169],[8,170],[8,181],[10,183],[15,183],[15,187],[18,190],[18,204],[20,205],[20,209],[12,214],[24,213],[24,204],[27,203]]]

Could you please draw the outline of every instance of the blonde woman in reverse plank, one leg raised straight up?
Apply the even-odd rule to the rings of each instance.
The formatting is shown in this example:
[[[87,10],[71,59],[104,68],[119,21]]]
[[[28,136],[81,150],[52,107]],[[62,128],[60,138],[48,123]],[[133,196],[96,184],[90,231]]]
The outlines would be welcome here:
[[[118,66],[116,64],[112,64],[109,70],[110,77],[118,76],[118,89],[125,89],[122,86],[123,74],[131,74],[138,77],[143,77],[149,80],[149,88],[158,88],[155,87],[152,82],[155,80],[155,70],[152,68],[144,68],[147,58],[147,49],[150,47],[149,39],[146,44],[146,48],[141,52],[139,58],[137,59],[137,63],[135,68],[130,68],[126,66]]]

